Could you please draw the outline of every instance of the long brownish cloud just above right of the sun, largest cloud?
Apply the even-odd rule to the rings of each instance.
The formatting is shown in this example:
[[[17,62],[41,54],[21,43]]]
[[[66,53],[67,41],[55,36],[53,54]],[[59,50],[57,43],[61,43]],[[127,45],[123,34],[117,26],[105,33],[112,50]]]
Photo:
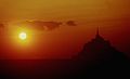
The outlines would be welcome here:
[[[53,30],[62,25],[62,23],[58,22],[42,22],[42,21],[32,21],[26,23],[28,23],[32,28],[38,30]]]

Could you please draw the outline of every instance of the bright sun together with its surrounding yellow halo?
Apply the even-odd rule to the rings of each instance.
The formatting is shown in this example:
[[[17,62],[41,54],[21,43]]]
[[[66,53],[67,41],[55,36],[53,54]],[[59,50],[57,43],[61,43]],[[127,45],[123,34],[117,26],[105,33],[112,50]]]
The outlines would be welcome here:
[[[12,43],[16,47],[29,47],[34,43],[35,31],[27,26],[13,26],[11,34]]]

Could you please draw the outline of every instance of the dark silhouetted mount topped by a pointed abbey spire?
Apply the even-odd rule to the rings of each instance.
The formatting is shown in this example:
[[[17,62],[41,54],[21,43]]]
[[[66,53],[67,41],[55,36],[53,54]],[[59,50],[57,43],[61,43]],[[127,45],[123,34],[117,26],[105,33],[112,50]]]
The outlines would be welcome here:
[[[117,51],[108,40],[105,40],[96,30],[95,38],[83,45],[83,49],[77,55],[77,58],[82,61],[109,61],[127,58],[127,56]]]

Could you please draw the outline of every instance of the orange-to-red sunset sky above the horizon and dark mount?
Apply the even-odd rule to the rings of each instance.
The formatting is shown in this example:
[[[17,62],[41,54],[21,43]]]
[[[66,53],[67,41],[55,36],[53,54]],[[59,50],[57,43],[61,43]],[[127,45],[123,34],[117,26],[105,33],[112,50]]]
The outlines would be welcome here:
[[[130,55],[129,0],[0,0],[1,58],[66,58],[81,51],[100,34]],[[26,21],[61,22],[53,30],[39,30]],[[66,22],[74,21],[76,26]],[[20,28],[20,26],[24,26]],[[29,27],[28,27],[29,26]],[[26,44],[15,36],[26,31]]]

